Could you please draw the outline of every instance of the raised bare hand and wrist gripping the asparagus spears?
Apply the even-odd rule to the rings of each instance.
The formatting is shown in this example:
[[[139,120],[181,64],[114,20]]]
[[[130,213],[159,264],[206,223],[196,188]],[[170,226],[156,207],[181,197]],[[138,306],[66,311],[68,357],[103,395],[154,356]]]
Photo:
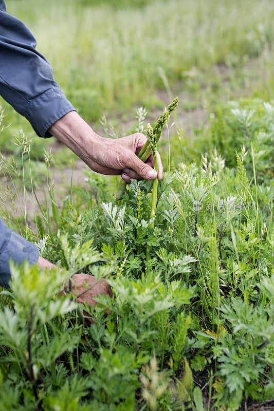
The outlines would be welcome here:
[[[131,178],[154,180],[156,171],[151,155],[143,163],[137,154],[147,138],[141,133],[113,140],[94,133],[93,129],[76,113],[71,111],[49,128],[49,133],[67,145],[90,169],[107,175],[122,174],[126,182]],[[158,179],[162,179],[162,163],[159,153]]]

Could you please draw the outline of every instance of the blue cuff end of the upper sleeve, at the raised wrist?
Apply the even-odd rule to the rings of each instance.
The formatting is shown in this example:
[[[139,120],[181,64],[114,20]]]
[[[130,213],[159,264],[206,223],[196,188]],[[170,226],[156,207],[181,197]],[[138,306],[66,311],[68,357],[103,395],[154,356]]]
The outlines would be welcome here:
[[[40,96],[29,101],[29,106],[23,113],[39,137],[51,137],[49,127],[70,111],[76,111],[67,100],[61,88],[53,86]]]

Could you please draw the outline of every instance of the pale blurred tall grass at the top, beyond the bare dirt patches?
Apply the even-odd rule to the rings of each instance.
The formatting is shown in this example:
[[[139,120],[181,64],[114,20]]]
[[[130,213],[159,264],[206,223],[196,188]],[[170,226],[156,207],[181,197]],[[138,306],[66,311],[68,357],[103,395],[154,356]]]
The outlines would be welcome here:
[[[112,5],[10,0],[7,6],[29,26],[56,80],[88,122],[103,112],[119,114],[123,121],[141,104],[162,108],[157,89],[165,89],[165,78],[176,87],[173,95],[187,97],[188,102],[181,99],[186,107],[209,104],[214,96],[243,87],[264,99],[271,94],[271,1],[260,6],[256,0]],[[225,82],[218,65],[230,69]],[[21,124],[17,116],[12,120],[12,127]]]

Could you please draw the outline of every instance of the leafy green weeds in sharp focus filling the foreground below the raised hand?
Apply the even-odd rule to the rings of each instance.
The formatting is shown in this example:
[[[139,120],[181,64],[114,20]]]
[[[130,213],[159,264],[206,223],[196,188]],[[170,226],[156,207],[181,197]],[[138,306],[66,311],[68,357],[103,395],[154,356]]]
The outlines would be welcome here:
[[[88,172],[88,190],[75,186],[58,204],[46,154],[50,201],[23,235],[68,271],[12,267],[1,294],[1,409],[236,411],[273,397],[274,179],[264,169],[273,109],[233,110],[208,130],[215,142],[222,118],[228,157],[212,147],[165,173],[153,219],[151,181],[132,180],[118,203],[117,179]],[[30,221],[5,205],[9,223]],[[77,271],[106,278],[114,293],[96,297],[90,326],[88,307],[59,295]]]

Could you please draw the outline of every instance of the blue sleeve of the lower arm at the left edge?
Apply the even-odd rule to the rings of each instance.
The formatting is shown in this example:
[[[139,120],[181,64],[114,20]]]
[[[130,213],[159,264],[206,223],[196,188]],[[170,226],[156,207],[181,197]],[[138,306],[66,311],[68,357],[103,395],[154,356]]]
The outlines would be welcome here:
[[[30,264],[35,264],[38,257],[38,248],[21,235],[10,230],[0,219],[0,286],[9,287],[11,279],[10,259],[21,265],[24,260]]]

